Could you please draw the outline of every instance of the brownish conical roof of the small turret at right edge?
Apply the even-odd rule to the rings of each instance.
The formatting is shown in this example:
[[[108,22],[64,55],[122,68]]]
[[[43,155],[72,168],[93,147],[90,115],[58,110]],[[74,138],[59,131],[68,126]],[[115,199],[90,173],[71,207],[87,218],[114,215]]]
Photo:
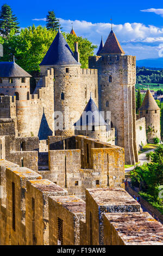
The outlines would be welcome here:
[[[147,90],[145,99],[143,100],[142,105],[139,108],[139,111],[142,111],[142,110],[160,110],[159,106],[155,102],[155,99],[152,96],[152,93],[150,92],[149,89]]]

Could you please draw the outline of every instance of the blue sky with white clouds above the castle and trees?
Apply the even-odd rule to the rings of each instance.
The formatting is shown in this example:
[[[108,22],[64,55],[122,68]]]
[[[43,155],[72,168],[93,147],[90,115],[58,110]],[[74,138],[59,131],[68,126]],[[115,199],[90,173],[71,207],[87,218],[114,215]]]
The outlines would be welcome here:
[[[79,36],[100,44],[110,32],[112,16],[113,30],[127,54],[137,59],[158,58],[163,46],[163,6],[162,1],[43,1],[6,0],[18,17],[21,27],[45,26],[48,10],[54,10],[60,19],[62,30],[74,31]],[[162,44],[162,46],[161,46]]]

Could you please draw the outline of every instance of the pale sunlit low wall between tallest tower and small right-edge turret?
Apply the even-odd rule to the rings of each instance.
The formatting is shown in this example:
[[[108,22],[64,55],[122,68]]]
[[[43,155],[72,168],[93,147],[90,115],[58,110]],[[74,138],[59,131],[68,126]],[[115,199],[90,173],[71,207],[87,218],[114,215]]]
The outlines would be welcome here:
[[[146,119],[141,118],[136,120],[136,146],[137,150],[140,149],[140,145],[147,144],[147,136],[146,136]]]

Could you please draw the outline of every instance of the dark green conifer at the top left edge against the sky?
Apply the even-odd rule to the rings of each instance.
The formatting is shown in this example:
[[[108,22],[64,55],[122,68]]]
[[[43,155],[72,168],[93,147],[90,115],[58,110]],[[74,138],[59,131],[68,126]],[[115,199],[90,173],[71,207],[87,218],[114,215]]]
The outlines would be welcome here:
[[[3,38],[8,38],[12,29],[15,33],[18,33],[17,17],[12,14],[11,7],[7,4],[2,5],[0,11],[0,34]]]

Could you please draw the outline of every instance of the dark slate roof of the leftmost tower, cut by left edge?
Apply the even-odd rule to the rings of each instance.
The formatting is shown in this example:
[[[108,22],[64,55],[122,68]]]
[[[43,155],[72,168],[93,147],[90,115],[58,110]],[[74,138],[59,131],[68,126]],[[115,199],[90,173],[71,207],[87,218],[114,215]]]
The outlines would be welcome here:
[[[0,62],[0,77],[32,77],[15,62]]]

